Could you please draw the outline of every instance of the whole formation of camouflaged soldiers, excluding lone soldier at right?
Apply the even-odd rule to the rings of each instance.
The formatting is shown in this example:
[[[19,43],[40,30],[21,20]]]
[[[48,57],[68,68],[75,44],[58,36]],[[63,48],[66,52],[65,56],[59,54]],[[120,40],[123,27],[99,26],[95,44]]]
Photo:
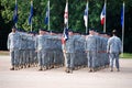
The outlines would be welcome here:
[[[8,36],[11,69],[38,66],[38,70],[45,70],[65,65],[66,73],[69,73],[86,66],[90,72],[108,66],[109,57],[106,51],[109,37],[106,34],[94,33],[94,36],[69,34],[62,47],[63,34],[48,33],[44,30],[40,30],[38,34],[24,33],[16,32],[13,28]],[[72,53],[72,56],[68,56],[68,53]]]

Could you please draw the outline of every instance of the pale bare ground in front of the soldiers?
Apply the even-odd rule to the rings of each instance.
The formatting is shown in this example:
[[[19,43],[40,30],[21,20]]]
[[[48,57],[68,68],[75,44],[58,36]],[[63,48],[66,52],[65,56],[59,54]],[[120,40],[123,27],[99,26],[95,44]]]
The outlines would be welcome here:
[[[0,88],[132,88],[132,59],[120,59],[121,72],[87,68],[66,74],[64,67],[37,72],[37,67],[9,70],[10,57],[0,56]]]

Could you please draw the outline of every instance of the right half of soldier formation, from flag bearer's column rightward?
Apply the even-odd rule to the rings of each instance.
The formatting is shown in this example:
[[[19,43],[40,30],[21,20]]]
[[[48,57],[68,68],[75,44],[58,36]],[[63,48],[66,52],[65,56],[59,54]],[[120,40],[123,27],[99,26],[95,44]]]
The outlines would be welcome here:
[[[64,44],[66,73],[73,73],[76,65],[89,67],[89,72],[96,72],[109,66],[107,43],[110,37],[107,34],[99,34],[94,29],[89,35],[68,33],[68,40]]]

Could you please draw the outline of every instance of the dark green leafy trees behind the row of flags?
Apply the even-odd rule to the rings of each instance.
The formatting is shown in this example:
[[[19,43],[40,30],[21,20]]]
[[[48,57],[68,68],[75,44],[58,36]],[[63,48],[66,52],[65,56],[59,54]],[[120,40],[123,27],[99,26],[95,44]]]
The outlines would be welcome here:
[[[28,18],[30,14],[30,1],[31,0],[18,0],[18,28],[30,31],[28,25]],[[68,0],[69,3],[69,29],[75,32],[85,33],[84,24],[84,10],[87,0]],[[0,1],[0,50],[7,50],[7,36],[10,29],[14,25],[12,21],[15,0],[1,0]],[[51,30],[63,32],[64,25],[64,9],[65,0],[51,0]],[[46,13],[47,0],[33,0],[34,15],[33,15],[33,31],[37,31],[40,28],[47,28],[44,24],[44,18]],[[103,0],[89,0],[89,28],[102,32],[102,25],[100,24],[100,13],[103,7]],[[107,32],[111,32],[117,29],[119,36],[121,37],[121,8],[122,0],[107,0]],[[124,37],[124,51],[132,52],[132,0],[125,0],[125,37]],[[3,47],[2,47],[3,45]],[[129,46],[129,48],[128,48]]]

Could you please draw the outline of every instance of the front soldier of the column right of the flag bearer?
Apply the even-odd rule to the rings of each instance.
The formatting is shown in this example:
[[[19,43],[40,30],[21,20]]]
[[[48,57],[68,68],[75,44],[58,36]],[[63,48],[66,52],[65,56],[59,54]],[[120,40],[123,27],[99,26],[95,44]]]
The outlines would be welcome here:
[[[97,59],[97,37],[95,36],[94,29],[90,29],[89,35],[86,36],[86,53],[89,72],[95,72]]]

